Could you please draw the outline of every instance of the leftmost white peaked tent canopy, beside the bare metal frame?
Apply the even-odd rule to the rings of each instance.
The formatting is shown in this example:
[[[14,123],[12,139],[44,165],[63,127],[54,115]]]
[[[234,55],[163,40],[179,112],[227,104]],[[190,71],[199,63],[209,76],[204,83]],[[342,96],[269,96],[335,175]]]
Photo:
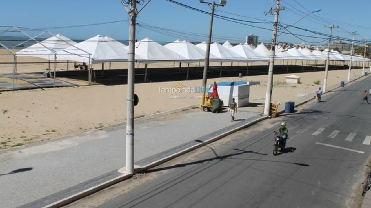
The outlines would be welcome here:
[[[18,51],[17,56],[34,56],[45,58],[47,60],[54,59],[58,51],[76,45],[75,41],[58,33],[55,36],[47,38],[39,43],[33,44],[27,48]]]

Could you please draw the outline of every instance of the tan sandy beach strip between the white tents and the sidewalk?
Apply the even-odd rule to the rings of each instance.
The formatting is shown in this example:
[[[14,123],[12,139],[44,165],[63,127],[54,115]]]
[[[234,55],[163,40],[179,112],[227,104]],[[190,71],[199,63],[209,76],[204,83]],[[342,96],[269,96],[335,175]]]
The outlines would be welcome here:
[[[352,70],[351,76],[359,76],[361,71],[361,69]],[[347,73],[348,70],[329,71],[328,86],[345,81]],[[324,72],[296,73],[301,76],[300,84],[285,83],[285,76],[288,75],[290,74],[274,75],[272,102],[285,103],[309,93],[314,94],[315,90],[322,86]],[[249,111],[262,112],[266,75],[214,78],[208,80],[208,85],[214,81],[241,80],[260,81],[260,85],[250,87],[249,102],[256,107],[245,108]],[[321,83],[316,85],[315,80],[321,80]],[[135,93],[139,96],[135,117],[199,103],[198,93],[171,95],[161,93],[159,90],[159,87],[171,88],[176,84],[194,88],[201,85],[201,80],[135,84]],[[92,85],[2,92],[0,94],[0,148],[58,138],[121,123],[126,117],[126,93],[126,85]]]

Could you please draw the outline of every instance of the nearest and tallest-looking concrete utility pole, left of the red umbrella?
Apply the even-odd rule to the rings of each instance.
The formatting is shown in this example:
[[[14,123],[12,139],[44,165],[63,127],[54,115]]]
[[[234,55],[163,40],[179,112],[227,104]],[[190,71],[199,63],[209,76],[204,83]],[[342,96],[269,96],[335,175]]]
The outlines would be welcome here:
[[[137,10],[137,0],[121,0],[122,5],[129,14],[129,53],[128,53],[128,82],[127,82],[127,108],[126,108],[126,161],[125,171],[134,173],[134,76],[135,76],[135,23],[137,15],[150,3]],[[130,9],[128,5],[130,4]]]

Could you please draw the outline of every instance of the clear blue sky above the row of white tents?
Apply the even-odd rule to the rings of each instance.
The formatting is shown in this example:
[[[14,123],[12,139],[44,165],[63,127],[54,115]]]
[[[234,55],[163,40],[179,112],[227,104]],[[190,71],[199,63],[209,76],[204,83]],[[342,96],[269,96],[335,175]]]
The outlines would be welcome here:
[[[198,0],[175,1],[210,12],[210,6],[200,3]],[[219,3],[219,0],[216,3]],[[264,11],[269,11],[275,5],[273,0],[227,0],[225,7],[216,7],[215,14],[244,22],[239,24],[214,17],[213,41],[224,43],[229,40],[231,43],[243,43],[246,40],[246,35],[252,33],[259,36],[259,42],[269,43],[272,37],[273,24],[271,22],[273,22],[274,16],[266,15]],[[280,5],[285,7],[285,10],[279,13],[279,22],[283,25],[293,24],[309,11],[321,8],[322,11],[315,13],[316,16],[310,14],[295,26],[329,34],[329,28],[324,26],[333,24],[339,26],[339,28],[334,28],[332,32],[332,35],[336,37],[344,37],[345,40],[349,40],[352,38],[349,32],[357,31],[359,35],[355,36],[355,40],[371,39],[370,0],[281,0]],[[138,9],[141,7],[142,5],[137,6]],[[62,33],[74,40],[85,40],[97,34],[108,35],[116,40],[128,40],[128,13],[120,0],[2,1],[1,8],[0,30],[6,28],[1,26],[48,28],[47,30],[54,34]],[[96,24],[112,21],[118,22]],[[241,23],[241,21],[239,22]],[[137,40],[149,37],[162,43],[177,39],[206,41],[210,16],[166,0],[151,0],[138,14],[137,23]],[[85,24],[96,25],[81,26]],[[282,27],[280,29],[282,30]],[[293,34],[321,38],[282,34],[278,37],[278,42],[324,44],[328,41],[326,36],[313,34],[310,31],[297,28],[290,28],[289,31]],[[28,31],[27,33],[35,35],[40,32]],[[2,36],[12,35],[14,33],[5,33]]]

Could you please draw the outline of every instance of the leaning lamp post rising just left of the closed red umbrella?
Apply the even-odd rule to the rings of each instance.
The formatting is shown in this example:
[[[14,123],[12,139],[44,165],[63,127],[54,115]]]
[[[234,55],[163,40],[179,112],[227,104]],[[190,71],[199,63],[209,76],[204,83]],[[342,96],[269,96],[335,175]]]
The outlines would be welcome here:
[[[200,108],[201,105],[205,104],[205,93],[206,93],[206,80],[207,80],[207,69],[209,68],[209,58],[210,58],[210,44],[211,44],[211,31],[213,30],[213,19],[214,19],[214,8],[215,6],[224,7],[227,4],[227,0],[220,0],[220,4],[216,4],[215,1],[212,3],[200,0],[200,3],[211,5],[211,16],[210,16],[210,26],[209,26],[209,37],[207,39],[206,54],[205,54],[205,64],[204,64],[204,73],[202,76],[202,92],[200,99]]]

